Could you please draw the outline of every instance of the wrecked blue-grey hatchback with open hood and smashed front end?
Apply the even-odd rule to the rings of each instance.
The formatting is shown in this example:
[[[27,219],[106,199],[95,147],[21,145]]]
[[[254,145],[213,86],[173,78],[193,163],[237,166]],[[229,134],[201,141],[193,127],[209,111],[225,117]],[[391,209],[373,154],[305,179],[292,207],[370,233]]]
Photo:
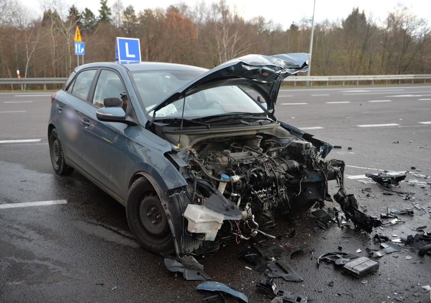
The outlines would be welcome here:
[[[273,237],[262,226],[323,206],[329,180],[347,200],[344,163],[324,160],[332,145],[274,116],[281,83],[308,59],[248,55],[211,70],[80,66],[52,96],[54,170],[76,170],[118,200],[153,252],[196,256],[219,239]]]

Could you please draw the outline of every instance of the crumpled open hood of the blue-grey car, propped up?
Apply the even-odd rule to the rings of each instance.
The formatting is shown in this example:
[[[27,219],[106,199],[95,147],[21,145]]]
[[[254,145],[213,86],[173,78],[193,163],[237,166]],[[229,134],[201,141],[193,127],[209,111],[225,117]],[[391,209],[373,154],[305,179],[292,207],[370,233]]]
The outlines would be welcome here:
[[[240,85],[257,91],[265,99],[268,111],[273,113],[281,82],[292,74],[307,71],[309,58],[310,54],[294,53],[247,55],[233,59],[190,80],[147,114],[154,110],[155,115],[156,111],[182,96],[222,85]]]

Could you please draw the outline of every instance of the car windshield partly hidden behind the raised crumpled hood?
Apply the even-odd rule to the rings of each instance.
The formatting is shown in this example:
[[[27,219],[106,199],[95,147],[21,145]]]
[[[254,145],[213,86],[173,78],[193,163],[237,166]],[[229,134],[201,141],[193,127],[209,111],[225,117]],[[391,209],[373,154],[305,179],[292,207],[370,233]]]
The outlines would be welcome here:
[[[151,110],[177,88],[198,76],[196,71],[158,71],[133,74],[136,89],[145,111]],[[138,85],[138,83],[141,83]],[[184,97],[159,109],[160,117],[180,118]],[[185,98],[184,118],[195,119],[233,114],[264,113],[255,100],[239,86],[217,86],[198,91]],[[153,112],[150,112],[153,115]]]

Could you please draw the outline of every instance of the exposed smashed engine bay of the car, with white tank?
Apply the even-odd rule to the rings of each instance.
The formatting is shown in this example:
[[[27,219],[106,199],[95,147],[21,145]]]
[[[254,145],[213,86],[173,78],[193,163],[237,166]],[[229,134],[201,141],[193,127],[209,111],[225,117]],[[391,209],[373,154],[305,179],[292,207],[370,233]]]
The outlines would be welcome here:
[[[336,180],[342,188],[344,163],[322,159],[332,145],[292,133],[276,123],[242,135],[183,134],[182,144],[188,147],[178,156],[187,164],[188,236],[205,242],[220,234],[237,241],[258,233],[274,237],[260,229],[262,223],[331,201],[327,181]],[[178,138],[173,132],[163,135],[171,142]],[[185,246],[186,252],[201,248],[196,243]]]

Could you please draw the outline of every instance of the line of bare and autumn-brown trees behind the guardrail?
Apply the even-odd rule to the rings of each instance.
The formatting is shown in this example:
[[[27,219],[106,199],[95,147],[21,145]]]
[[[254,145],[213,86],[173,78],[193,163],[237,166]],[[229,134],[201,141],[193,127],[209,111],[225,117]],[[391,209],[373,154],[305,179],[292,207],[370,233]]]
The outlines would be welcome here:
[[[17,0],[0,0],[0,78],[67,77],[76,67],[79,26],[85,63],[114,61],[115,37],[140,38],[143,61],[212,68],[246,54],[309,51],[311,20],[287,30],[271,19],[243,17],[225,0],[194,7],[136,12],[116,0],[100,1],[98,15],[51,2],[29,20]],[[311,75],[431,74],[431,37],[426,20],[398,6],[377,23],[358,8],[345,19],[315,23]]]

